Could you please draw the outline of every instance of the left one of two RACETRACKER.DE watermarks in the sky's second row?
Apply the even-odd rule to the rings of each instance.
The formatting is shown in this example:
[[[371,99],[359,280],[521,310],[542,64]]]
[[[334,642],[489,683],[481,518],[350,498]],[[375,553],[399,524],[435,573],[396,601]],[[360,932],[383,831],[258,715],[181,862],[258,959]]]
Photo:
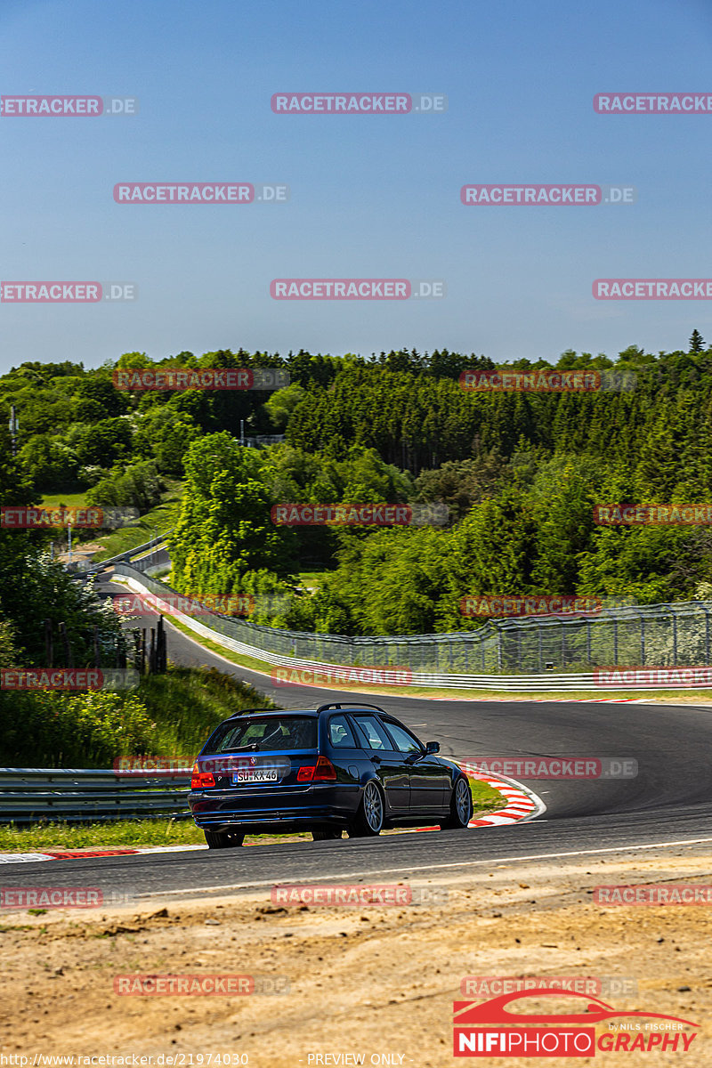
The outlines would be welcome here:
[[[117,182],[116,204],[286,204],[284,182]]]

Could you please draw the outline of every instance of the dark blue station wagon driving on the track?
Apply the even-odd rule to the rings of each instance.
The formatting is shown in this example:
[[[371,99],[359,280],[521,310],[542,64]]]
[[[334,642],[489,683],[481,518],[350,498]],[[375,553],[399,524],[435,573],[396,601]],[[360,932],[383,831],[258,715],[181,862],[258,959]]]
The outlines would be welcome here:
[[[210,735],[188,803],[210,849],[246,834],[314,839],[393,827],[466,828],[466,776],[376,705],[236,712]]]

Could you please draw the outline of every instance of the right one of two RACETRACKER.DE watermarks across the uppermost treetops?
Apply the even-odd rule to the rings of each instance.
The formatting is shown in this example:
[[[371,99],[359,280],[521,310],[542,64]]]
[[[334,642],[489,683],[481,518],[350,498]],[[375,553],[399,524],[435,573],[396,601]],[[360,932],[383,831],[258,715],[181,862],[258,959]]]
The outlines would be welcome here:
[[[473,393],[597,393],[630,392],[637,386],[633,371],[493,371],[468,368],[460,375],[460,387]]]

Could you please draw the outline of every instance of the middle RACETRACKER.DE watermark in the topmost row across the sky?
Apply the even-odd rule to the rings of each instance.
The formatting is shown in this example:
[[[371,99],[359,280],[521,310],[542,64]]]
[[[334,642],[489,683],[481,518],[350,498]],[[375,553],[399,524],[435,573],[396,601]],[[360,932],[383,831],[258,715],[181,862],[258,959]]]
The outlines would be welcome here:
[[[273,93],[275,115],[438,115],[447,111],[444,93]]]

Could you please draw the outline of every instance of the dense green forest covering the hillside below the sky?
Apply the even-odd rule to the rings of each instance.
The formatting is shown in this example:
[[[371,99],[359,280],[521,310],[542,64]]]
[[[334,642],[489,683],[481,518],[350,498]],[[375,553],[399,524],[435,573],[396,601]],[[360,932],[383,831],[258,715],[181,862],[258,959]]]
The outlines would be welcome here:
[[[288,371],[275,393],[123,392],[116,366]],[[145,354],[84,371],[22,364],[0,378],[0,420],[19,419],[25,494],[79,491],[95,504],[159,499],[184,482],[173,582],[200,596],[250,593],[257,622],[344,634],[463,630],[476,593],[581,594],[660,602],[712,581],[707,527],[597,527],[597,503],[712,501],[712,349],[615,360],[568,350],[507,370],[624,372],[626,388],[471,392],[486,357],[437,350],[371,359],[279,354]],[[248,434],[282,444],[244,449]],[[444,502],[446,529],[285,529],[274,503]],[[4,498],[3,498],[4,502]],[[6,503],[6,502],[5,502]],[[16,503],[16,502],[12,502]],[[7,537],[7,535],[3,535]],[[32,535],[28,535],[32,537]],[[299,571],[326,568],[313,595]],[[260,615],[260,597],[283,610]],[[4,606],[2,590],[0,603]]]

